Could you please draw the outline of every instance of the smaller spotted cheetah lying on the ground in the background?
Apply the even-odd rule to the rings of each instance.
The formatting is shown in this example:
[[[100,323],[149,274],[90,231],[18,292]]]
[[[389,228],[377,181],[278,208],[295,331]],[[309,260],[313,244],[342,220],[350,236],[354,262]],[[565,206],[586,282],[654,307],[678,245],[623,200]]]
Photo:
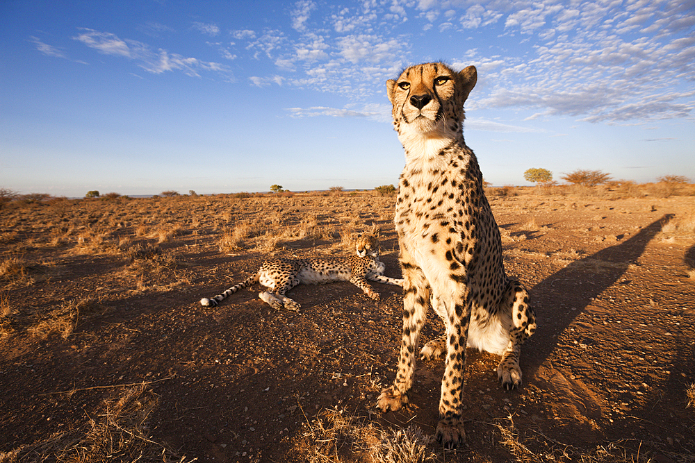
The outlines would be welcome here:
[[[260,282],[261,285],[270,288],[270,291],[259,293],[259,297],[270,307],[275,309],[284,307],[296,311],[299,310],[300,305],[286,297],[285,293],[300,283],[318,285],[334,281],[349,281],[373,299],[378,299],[379,294],[374,292],[367,280],[388,283],[389,285],[403,285],[403,280],[384,276],[386,264],[379,260],[377,237],[358,235],[355,248],[357,256],[351,255],[349,258],[267,260],[263,262],[255,275],[247,278],[243,283],[239,283],[211,299],[202,298],[200,303],[205,307],[215,307],[220,301],[236,293],[239,289]]]

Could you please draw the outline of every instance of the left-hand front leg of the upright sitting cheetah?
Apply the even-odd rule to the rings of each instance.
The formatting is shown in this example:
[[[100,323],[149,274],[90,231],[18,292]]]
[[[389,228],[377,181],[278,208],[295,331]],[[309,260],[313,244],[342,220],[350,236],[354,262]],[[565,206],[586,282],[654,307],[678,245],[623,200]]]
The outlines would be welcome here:
[[[404,253],[404,251],[402,251]],[[413,385],[416,357],[420,341],[420,330],[425,324],[427,300],[430,286],[423,271],[401,258],[403,269],[403,335],[398,355],[398,373],[393,385],[386,387],[377,399],[377,408],[382,412],[400,410],[408,402],[407,393]]]

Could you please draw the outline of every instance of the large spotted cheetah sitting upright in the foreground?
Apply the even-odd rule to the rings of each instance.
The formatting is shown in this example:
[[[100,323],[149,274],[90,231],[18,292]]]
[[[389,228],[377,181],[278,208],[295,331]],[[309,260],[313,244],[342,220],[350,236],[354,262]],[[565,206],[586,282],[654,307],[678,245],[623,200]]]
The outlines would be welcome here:
[[[404,310],[398,373],[377,407],[386,412],[407,403],[430,303],[446,334],[420,354],[446,355],[435,432],[446,448],[466,440],[466,346],[501,355],[498,377],[513,389],[521,383],[521,344],[536,328],[526,289],[505,273],[500,231],[464,142],[464,101],[476,81],[473,66],[455,72],[434,62],[409,67],[386,84],[406,160],[395,212]]]

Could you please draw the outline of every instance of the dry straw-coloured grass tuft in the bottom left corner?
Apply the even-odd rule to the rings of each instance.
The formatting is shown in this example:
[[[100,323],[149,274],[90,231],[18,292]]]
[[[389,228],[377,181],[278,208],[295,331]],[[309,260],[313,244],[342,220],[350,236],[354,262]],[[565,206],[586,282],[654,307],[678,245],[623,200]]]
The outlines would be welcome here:
[[[144,383],[123,389],[104,401],[102,410],[84,426],[0,453],[0,463],[195,461],[149,437],[148,420],[157,406],[158,397]]]

